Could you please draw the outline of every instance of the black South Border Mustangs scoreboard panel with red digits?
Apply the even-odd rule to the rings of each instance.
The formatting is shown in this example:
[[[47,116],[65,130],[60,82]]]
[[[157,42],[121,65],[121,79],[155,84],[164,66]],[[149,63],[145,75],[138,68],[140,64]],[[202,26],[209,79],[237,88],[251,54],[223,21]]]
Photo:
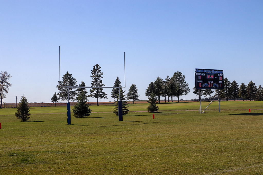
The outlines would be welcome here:
[[[224,71],[195,69],[196,89],[224,89]]]

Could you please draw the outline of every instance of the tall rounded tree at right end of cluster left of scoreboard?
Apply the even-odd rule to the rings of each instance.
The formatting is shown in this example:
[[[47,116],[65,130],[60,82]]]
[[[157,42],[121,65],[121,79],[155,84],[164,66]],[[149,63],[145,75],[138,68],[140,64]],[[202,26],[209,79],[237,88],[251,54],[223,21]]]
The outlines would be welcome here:
[[[189,84],[186,83],[185,76],[179,71],[174,73],[173,78],[174,78],[174,81],[176,84],[176,91],[175,92],[176,92],[176,96],[177,96],[177,99],[179,102],[180,96],[187,95],[190,92],[190,89],[188,87]]]

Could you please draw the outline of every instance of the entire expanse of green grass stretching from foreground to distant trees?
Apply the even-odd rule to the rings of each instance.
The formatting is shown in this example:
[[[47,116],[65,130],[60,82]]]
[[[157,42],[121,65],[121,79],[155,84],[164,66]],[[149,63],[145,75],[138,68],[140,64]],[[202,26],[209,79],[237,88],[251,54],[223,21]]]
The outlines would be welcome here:
[[[67,125],[65,107],[34,107],[21,122],[1,109],[0,174],[261,174],[263,102],[130,104],[118,121],[112,105],[90,106]],[[202,109],[208,102],[202,102]],[[251,109],[249,113],[248,109]]]

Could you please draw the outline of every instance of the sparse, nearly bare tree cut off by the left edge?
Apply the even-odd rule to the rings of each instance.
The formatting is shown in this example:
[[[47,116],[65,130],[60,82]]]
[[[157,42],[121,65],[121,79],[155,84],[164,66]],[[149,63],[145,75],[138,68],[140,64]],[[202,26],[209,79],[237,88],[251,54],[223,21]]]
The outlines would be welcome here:
[[[9,87],[12,86],[12,84],[9,82],[11,77],[12,76],[8,74],[7,71],[0,73],[0,98],[1,98],[0,109],[2,109],[3,98],[6,98],[5,93],[8,93]]]

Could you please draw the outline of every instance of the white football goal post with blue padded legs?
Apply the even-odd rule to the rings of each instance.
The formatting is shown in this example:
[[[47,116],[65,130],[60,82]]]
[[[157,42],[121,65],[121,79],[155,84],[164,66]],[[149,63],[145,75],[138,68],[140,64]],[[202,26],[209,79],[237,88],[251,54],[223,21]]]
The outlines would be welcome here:
[[[125,52],[124,52],[124,86],[120,87],[108,87],[108,86],[61,86],[60,85],[60,46],[59,46],[59,86],[60,87],[67,87],[68,88],[68,103],[67,103],[67,123],[68,125],[71,124],[71,115],[70,115],[70,103],[69,103],[69,88],[119,88],[119,97],[120,97],[120,88],[126,88],[126,73],[125,73]],[[122,100],[118,101],[118,114],[119,114],[119,121],[123,121],[122,117]]]

